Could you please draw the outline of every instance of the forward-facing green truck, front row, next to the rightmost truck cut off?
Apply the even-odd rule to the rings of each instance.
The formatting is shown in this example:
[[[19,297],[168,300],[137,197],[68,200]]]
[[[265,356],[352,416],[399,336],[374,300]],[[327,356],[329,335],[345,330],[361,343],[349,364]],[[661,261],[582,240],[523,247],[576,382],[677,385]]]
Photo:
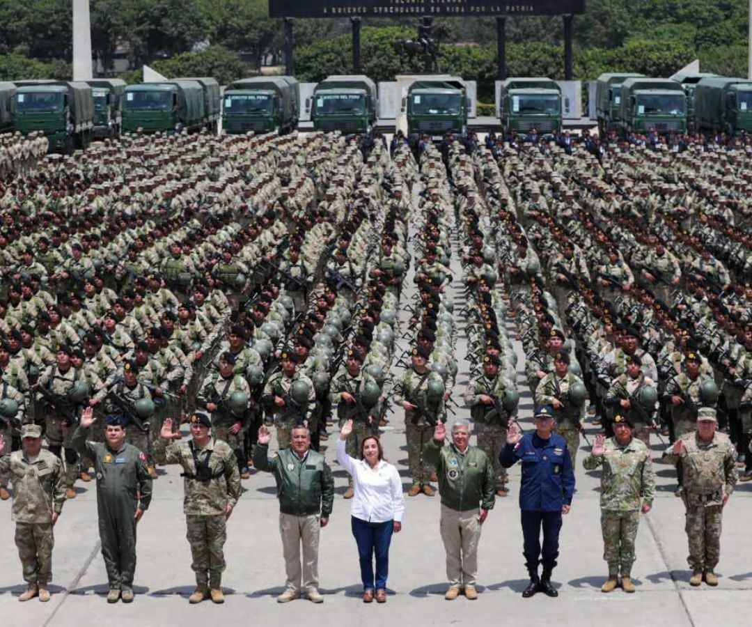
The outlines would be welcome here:
[[[687,96],[670,78],[627,78],[621,84],[620,134],[687,132]]]

